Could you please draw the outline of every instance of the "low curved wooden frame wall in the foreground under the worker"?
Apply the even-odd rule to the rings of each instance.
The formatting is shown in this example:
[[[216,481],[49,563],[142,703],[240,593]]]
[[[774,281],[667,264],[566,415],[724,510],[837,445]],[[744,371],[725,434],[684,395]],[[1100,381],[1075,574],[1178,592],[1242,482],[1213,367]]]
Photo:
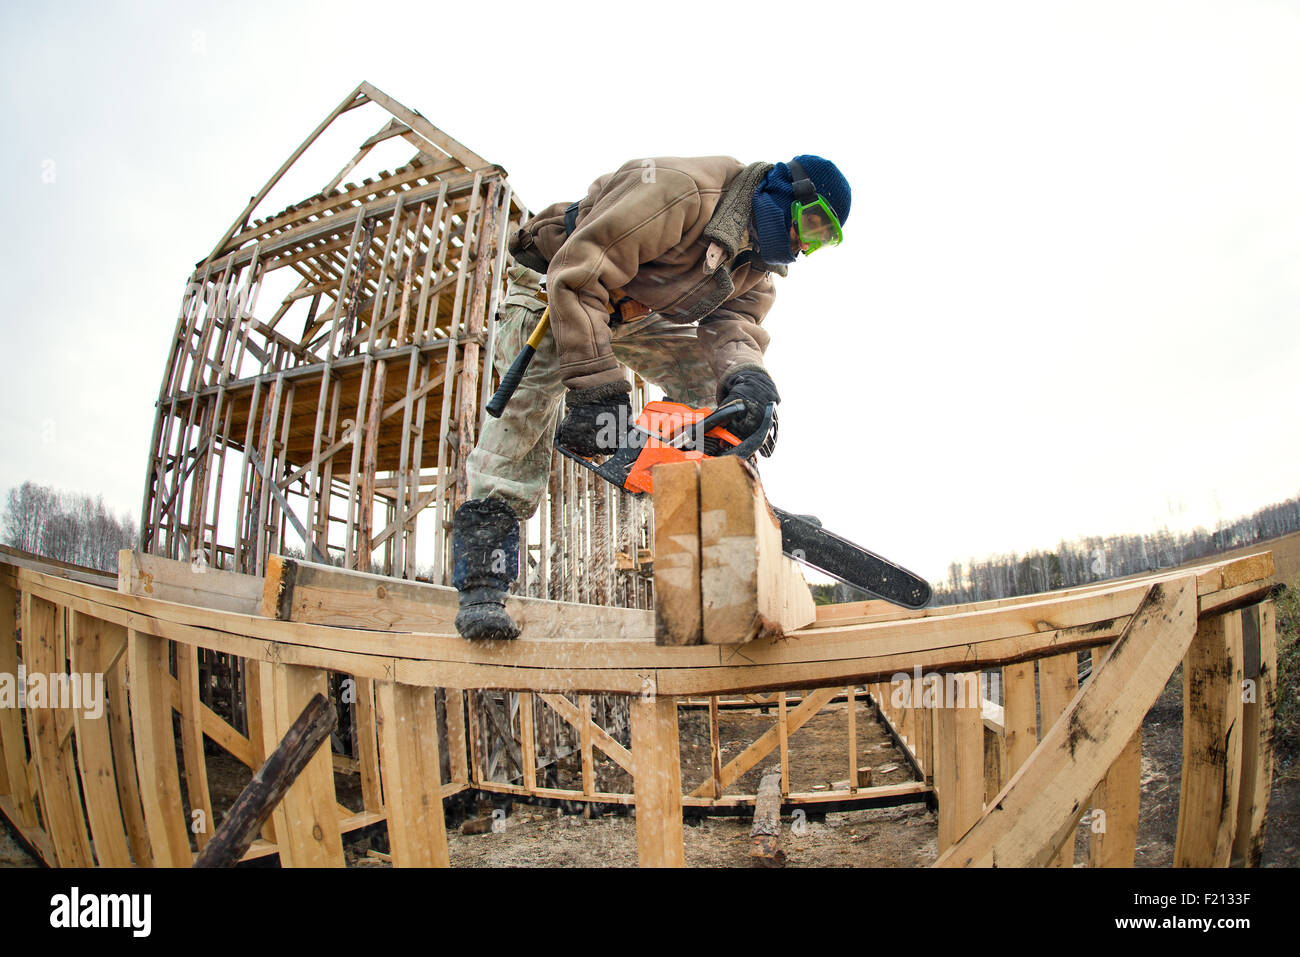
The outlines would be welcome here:
[[[1178,664],[1187,690],[1176,863],[1258,861],[1271,778],[1275,668],[1268,554],[1109,588],[888,620],[828,615],[822,627],[803,632],[816,640],[757,640],[745,646],[744,661],[728,655],[725,646],[658,646],[653,633],[599,638],[560,629],[484,648],[450,635],[276,620],[251,609],[174,601],[200,596],[195,579],[207,572],[152,562],[152,571],[140,572],[124,562],[118,589],[64,577],[65,570],[12,554],[0,563],[0,670],[16,668],[18,661],[43,674],[99,667],[109,689],[99,719],[75,710],[0,711],[0,811],[49,862],[188,863],[202,840],[188,823],[204,806],[203,749],[194,745],[207,737],[254,766],[287,728],[295,706],[335,672],[355,677],[359,688],[368,683],[378,716],[363,735],[370,746],[359,772],[373,779],[367,806],[342,807],[328,768],[306,775],[250,856],[280,853],[287,865],[338,865],[339,835],[385,820],[399,863],[446,863],[441,820],[413,809],[426,806],[430,794],[446,797],[469,787],[511,791],[484,774],[477,727],[482,713],[458,703],[486,694],[511,702],[511,736],[515,728],[524,740],[533,736],[534,748],[519,755],[524,792],[571,796],[538,785],[536,762],[528,757],[536,757],[538,728],[551,711],[573,728],[571,740],[582,753],[582,787],[572,796],[630,800],[642,863],[680,865],[682,806],[748,801],[751,796],[715,797],[714,787],[718,781],[724,792],[727,779],[753,754],[718,766],[697,788],[705,793],[682,794],[679,701],[737,698],[763,688],[811,689],[796,707],[775,700],[775,731],[759,749],[784,755],[805,715],[845,687],[864,685],[887,714],[893,713],[909,753],[933,781],[940,865],[1069,863],[1080,807],[1105,811],[1108,822],[1104,835],[1089,843],[1088,862],[1128,865],[1136,827],[1134,741]],[[251,603],[252,589],[244,592],[246,598],[231,603]],[[454,602],[451,589],[438,592]],[[645,614],[594,611],[611,619]],[[199,651],[231,655],[246,667],[247,735],[196,701],[192,663]],[[1080,651],[1093,667],[1069,694]],[[1039,724],[1027,718],[1032,698],[1023,681],[1024,666],[1035,663],[1040,684],[1049,684],[1044,674],[1062,676],[1060,690],[1045,688],[1035,702],[1043,713]],[[956,709],[926,707],[918,700],[914,713],[898,714],[880,685],[913,674],[914,666],[966,676],[954,684],[972,688],[978,703],[967,698]],[[979,694],[982,671],[1001,674],[1001,705],[985,705]],[[1239,693],[1247,677],[1257,689],[1253,705]],[[618,740],[621,732],[592,719],[602,694],[629,701],[625,742]],[[439,735],[430,733],[439,726],[439,700],[441,737],[448,742],[445,770]],[[170,735],[173,710],[182,718],[179,748]],[[1230,724],[1248,732],[1238,737],[1226,763],[1208,759],[1221,737],[1217,729]],[[1087,733],[1071,731],[1080,727]],[[597,752],[632,775],[630,796],[595,791]],[[192,796],[187,805],[182,780]],[[816,793],[785,800],[832,800]]]

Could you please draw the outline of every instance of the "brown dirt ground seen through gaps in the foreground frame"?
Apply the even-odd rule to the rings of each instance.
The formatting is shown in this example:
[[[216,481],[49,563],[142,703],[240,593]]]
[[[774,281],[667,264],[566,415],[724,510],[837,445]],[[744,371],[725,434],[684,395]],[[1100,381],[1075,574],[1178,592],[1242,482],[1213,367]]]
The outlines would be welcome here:
[[[1182,758],[1182,684],[1175,672],[1143,724],[1141,813],[1136,866],[1167,867],[1173,862],[1178,828],[1179,765]],[[848,711],[832,703],[790,737],[790,788],[814,791],[842,781],[849,772],[846,753]],[[719,732],[723,761],[744,750],[776,720],[775,710],[723,710]],[[911,768],[859,700],[857,713],[859,766],[871,766],[874,784],[914,780]],[[682,711],[682,785],[690,789],[710,772],[707,710]],[[774,753],[746,774],[737,785],[753,793],[768,767],[779,766]],[[608,761],[597,766],[601,789],[625,789],[625,772]],[[559,768],[560,787],[577,784],[578,768],[566,762]],[[220,813],[248,780],[238,763],[209,758],[209,783]],[[356,778],[337,775],[339,800],[359,806]],[[499,804],[498,806],[506,806]],[[625,810],[584,815],[578,806],[546,807],[514,804],[498,832],[465,835],[464,813],[448,815],[448,846],[455,867],[632,867],[637,862],[636,820]],[[465,809],[473,814],[473,809]],[[693,867],[750,867],[749,815],[688,818],[684,828],[686,865]],[[924,804],[894,807],[809,811],[803,819],[783,818],[781,848],[786,867],[923,867],[935,861],[937,819]],[[382,827],[346,837],[348,863],[385,867],[387,852]],[[1080,827],[1075,861],[1087,859],[1087,832]],[[0,867],[35,866],[0,827]],[[1294,758],[1278,755],[1269,805],[1266,867],[1300,866],[1300,767]]]

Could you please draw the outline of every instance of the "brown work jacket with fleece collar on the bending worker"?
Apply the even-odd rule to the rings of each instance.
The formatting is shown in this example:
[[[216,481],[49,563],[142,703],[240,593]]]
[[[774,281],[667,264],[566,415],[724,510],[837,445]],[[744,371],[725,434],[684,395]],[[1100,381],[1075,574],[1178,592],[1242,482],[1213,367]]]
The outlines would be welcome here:
[[[630,160],[580,200],[542,209],[511,237],[520,263],[546,267],[551,329],[569,389],[624,381],[610,345],[610,313],[624,296],[679,322],[698,322],[719,382],[763,364],[772,274],[758,256],[754,189],[772,166],[729,156]]]

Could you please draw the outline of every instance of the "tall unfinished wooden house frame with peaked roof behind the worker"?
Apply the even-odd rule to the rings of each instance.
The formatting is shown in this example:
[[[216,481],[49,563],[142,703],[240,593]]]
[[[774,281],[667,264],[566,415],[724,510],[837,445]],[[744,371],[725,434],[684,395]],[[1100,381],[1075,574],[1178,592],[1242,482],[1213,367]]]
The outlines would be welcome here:
[[[354,111],[369,112],[373,135],[320,191],[259,217]],[[403,165],[348,181],[394,143],[415,150]],[[294,549],[445,583],[450,516],[493,387],[506,238],[526,217],[504,169],[420,113],[369,83],[344,98],[186,283],[140,549],[247,575]],[[523,529],[520,590],[645,606],[645,516],[594,481],[556,463]]]

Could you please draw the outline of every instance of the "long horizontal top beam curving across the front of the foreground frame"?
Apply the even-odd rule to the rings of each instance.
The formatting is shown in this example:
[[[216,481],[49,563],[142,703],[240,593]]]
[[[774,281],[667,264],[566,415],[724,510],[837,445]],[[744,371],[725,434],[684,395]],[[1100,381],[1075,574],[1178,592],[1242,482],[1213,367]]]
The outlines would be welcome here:
[[[673,696],[842,687],[850,680],[885,681],[915,666],[931,671],[987,668],[1044,653],[1096,648],[1122,633],[1141,601],[1132,586],[1118,586],[956,618],[824,628],[809,641],[753,641],[742,654],[728,648],[659,648],[649,638],[619,641],[590,635],[584,640],[521,638],[485,649],[450,635],[286,623],[157,602],[27,570],[16,575],[23,589],[60,605],[255,661],[278,655],[287,663],[358,676],[396,674],[411,684],[547,692],[636,694],[645,676],[654,675],[658,692]],[[1266,581],[1249,584],[1234,601],[1262,596],[1270,586]]]

